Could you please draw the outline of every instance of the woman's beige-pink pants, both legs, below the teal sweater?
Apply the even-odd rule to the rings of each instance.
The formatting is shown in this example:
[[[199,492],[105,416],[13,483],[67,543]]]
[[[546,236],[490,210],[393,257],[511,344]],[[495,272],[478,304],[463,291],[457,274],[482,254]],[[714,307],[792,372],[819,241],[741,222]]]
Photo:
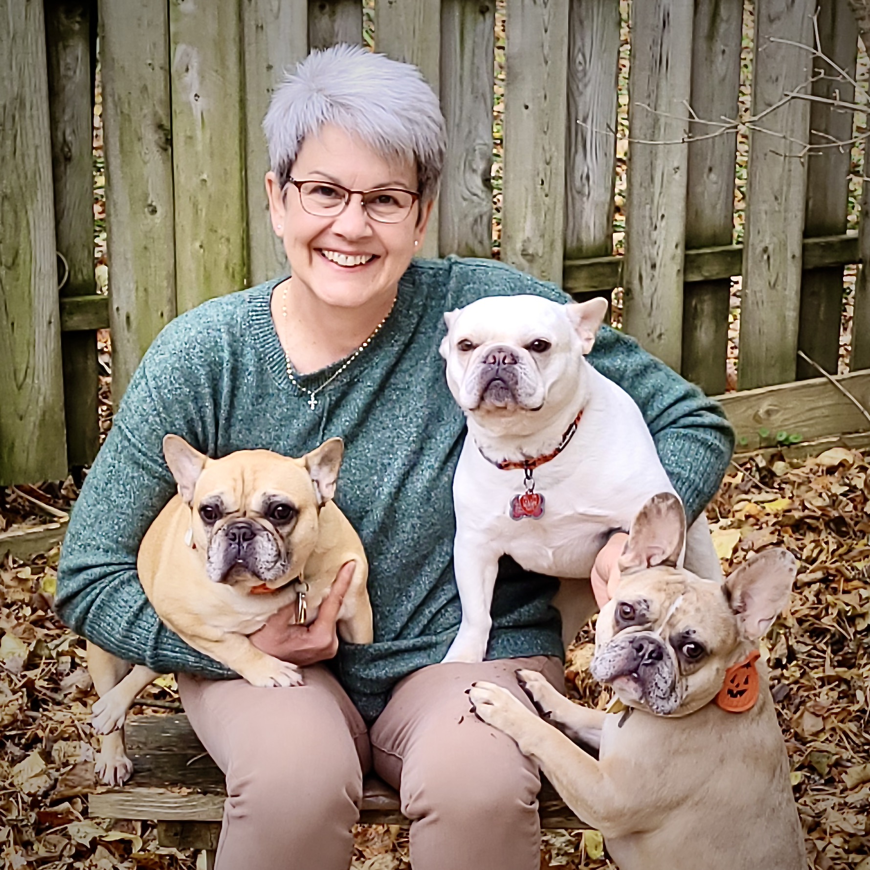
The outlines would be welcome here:
[[[279,689],[179,674],[191,724],[226,774],[218,870],[347,870],[372,766],[412,820],[414,870],[538,870],[538,768],[465,694],[487,679],[531,708],[519,667],[564,686],[559,660],[544,656],[432,665],[398,684],[371,739],[323,666]]]

